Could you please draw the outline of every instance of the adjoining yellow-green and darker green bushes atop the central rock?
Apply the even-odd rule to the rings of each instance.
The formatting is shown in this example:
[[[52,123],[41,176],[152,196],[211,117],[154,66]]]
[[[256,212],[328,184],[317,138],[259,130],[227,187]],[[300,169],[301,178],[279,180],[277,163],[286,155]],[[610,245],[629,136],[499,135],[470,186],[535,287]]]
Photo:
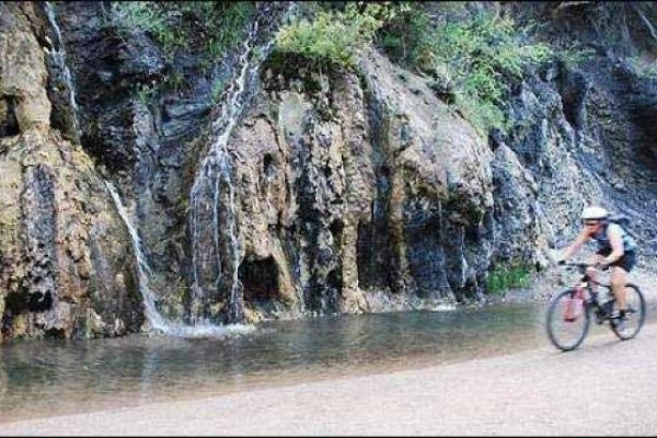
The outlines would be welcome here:
[[[464,4],[438,8],[458,12]],[[508,84],[554,56],[546,45],[529,43],[526,30],[511,19],[487,12],[436,22],[418,3],[338,2],[315,4],[308,15],[279,32],[279,54],[302,56],[320,68],[354,68],[358,54],[376,43],[400,65],[449,90],[458,110],[482,134],[493,127],[506,130]]]

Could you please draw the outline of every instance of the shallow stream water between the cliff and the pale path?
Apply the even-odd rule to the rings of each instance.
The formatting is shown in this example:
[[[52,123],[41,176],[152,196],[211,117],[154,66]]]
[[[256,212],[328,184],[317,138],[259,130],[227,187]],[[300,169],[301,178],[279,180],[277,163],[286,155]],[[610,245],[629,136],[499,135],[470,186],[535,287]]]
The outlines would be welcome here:
[[[0,422],[437,365],[544,346],[534,304],[269,322],[222,338],[0,346]],[[54,411],[55,410],[55,411]]]

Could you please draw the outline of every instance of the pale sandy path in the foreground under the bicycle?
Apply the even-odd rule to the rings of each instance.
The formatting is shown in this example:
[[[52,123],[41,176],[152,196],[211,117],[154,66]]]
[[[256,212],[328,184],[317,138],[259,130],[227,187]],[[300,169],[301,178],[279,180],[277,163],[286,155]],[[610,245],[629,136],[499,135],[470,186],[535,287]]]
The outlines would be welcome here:
[[[576,351],[0,424],[0,436],[657,435],[657,324]]]

